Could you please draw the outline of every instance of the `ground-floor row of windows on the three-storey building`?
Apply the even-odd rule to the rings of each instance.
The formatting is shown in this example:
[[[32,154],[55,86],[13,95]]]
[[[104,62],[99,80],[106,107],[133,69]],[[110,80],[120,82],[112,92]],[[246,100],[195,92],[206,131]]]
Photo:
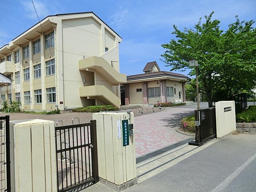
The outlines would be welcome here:
[[[5,101],[5,95],[2,95],[2,102]],[[20,93],[15,93],[16,102],[21,103]],[[30,91],[24,92],[24,103],[30,104],[31,103]],[[56,102],[56,88],[46,88],[46,99],[47,103],[55,103]],[[8,94],[8,100],[12,100],[12,94]],[[34,90],[34,102],[37,104],[42,103],[42,89]]]

